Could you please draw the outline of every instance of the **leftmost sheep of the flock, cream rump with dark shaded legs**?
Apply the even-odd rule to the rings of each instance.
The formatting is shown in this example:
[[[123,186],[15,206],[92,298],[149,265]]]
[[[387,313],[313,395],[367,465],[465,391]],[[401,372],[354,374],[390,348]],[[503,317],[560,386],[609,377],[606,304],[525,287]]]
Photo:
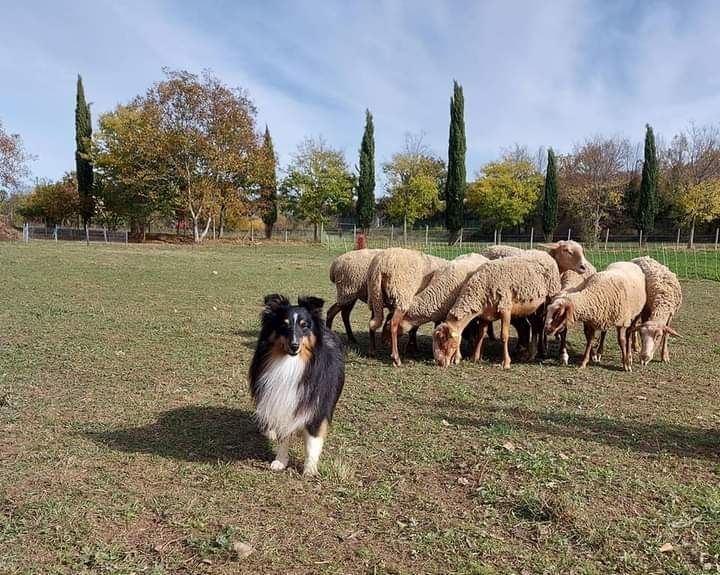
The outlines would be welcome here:
[[[350,312],[357,300],[367,303],[367,277],[373,258],[382,250],[360,249],[336,257],[330,264],[330,281],[335,284],[337,301],[327,312],[327,327],[332,329],[333,320],[340,312],[350,343],[357,344],[350,326]]]

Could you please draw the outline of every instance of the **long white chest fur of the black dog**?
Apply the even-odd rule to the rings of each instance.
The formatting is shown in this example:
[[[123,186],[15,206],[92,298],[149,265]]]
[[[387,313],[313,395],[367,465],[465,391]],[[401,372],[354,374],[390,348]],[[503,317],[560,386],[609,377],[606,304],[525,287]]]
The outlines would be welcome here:
[[[305,425],[305,414],[296,413],[305,362],[285,355],[268,361],[258,383],[255,417],[271,438],[287,437]]]

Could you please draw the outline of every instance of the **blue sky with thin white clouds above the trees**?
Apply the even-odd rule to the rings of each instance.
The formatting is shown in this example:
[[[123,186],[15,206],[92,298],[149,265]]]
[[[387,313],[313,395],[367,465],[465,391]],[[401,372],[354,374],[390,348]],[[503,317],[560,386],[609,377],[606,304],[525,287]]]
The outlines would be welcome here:
[[[378,170],[406,133],[446,157],[454,79],[470,177],[515,144],[640,141],[648,122],[669,141],[720,119],[715,0],[23,0],[1,12],[0,121],[38,178],[74,167],[78,73],[96,120],[163,67],[210,69],[249,92],[281,166],[319,135],[355,166],[366,108]]]

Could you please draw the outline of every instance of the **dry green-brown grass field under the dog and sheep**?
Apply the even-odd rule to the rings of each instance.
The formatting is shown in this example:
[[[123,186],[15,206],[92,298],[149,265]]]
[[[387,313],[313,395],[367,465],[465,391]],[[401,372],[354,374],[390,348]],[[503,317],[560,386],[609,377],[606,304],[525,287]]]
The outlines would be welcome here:
[[[0,573],[720,571],[720,284],[683,281],[672,363],[631,374],[614,337],[582,372],[361,338],[322,476],[300,443],[274,474],[260,301],[332,299],[330,257],[0,243]]]

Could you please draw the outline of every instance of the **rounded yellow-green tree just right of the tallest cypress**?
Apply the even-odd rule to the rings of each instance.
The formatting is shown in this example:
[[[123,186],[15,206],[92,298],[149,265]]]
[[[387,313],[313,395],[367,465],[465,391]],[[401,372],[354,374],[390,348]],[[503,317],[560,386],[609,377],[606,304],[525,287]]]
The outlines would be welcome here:
[[[499,230],[517,226],[537,205],[542,182],[528,160],[489,163],[468,188],[468,209]]]

